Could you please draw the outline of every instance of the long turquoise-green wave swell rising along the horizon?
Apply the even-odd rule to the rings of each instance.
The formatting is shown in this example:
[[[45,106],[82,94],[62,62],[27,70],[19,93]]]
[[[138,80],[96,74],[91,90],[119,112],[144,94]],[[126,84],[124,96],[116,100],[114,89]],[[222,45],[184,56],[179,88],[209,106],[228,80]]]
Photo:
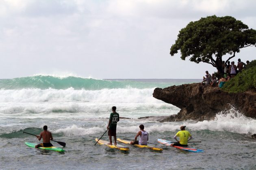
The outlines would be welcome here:
[[[182,82],[180,83],[182,84]],[[175,83],[160,84],[161,87],[175,85]],[[177,85],[177,84],[176,84]],[[19,77],[14,79],[0,79],[0,89],[87,89],[87,90],[100,90],[100,89],[118,89],[118,88],[153,88],[159,87],[159,83],[155,82],[142,82],[142,81],[112,81],[100,79],[86,79],[81,77],[53,77],[53,76],[32,76],[32,77]]]

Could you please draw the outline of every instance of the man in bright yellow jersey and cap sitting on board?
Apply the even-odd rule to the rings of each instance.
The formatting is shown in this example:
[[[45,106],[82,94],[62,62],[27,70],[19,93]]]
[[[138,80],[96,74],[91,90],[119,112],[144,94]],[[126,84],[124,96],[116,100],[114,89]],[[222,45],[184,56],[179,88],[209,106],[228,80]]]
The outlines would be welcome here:
[[[180,147],[187,147],[188,141],[192,139],[192,135],[185,129],[186,126],[180,126],[179,132],[174,136],[174,139],[177,140],[178,143],[171,144],[172,146],[180,146]],[[177,139],[177,136],[180,140]]]

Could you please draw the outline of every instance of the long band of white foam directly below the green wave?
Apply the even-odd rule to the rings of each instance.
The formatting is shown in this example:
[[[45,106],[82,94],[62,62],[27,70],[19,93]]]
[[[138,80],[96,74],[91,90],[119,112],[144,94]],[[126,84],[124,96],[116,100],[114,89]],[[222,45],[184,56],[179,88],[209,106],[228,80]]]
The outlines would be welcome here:
[[[0,90],[0,102],[114,102],[161,103],[153,98],[150,89],[20,89]]]

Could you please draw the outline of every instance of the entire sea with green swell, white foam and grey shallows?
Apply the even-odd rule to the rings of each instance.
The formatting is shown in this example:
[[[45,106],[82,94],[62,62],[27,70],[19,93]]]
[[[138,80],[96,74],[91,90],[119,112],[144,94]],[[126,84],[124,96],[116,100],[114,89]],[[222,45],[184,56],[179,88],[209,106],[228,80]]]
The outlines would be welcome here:
[[[256,169],[256,120],[234,107],[211,121],[160,123],[179,108],[153,98],[156,87],[197,83],[199,79],[84,79],[37,75],[0,79],[0,169]],[[190,153],[162,146],[162,152],[130,147],[123,152],[95,144],[106,131],[112,106],[120,121],[117,138],[134,139],[139,125],[149,132],[149,142],[174,140],[180,125],[193,136]],[[148,117],[142,118],[141,117]],[[39,143],[35,136],[43,125],[54,140],[66,142],[65,152],[27,147]],[[102,140],[109,140],[107,134]],[[59,146],[52,142],[54,146]]]

